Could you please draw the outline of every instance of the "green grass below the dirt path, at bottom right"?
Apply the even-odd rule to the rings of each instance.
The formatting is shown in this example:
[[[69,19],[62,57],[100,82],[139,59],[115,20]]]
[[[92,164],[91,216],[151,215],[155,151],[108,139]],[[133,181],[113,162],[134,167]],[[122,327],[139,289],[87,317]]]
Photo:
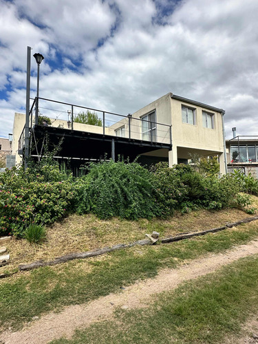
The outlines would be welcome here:
[[[227,334],[239,334],[241,324],[257,312],[257,287],[256,255],[164,292],[149,308],[118,310],[114,321],[52,343],[225,343]]]

